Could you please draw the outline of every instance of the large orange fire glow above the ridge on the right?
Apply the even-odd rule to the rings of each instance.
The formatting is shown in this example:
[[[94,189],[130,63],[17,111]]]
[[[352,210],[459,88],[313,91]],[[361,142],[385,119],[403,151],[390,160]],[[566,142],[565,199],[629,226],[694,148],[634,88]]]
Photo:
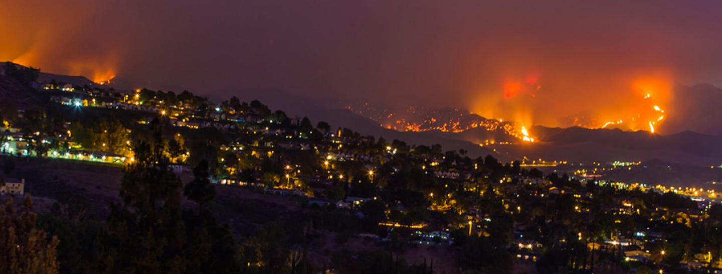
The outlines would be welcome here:
[[[471,108],[474,113],[489,119],[515,121],[520,138],[524,125],[543,124],[551,127],[586,127],[589,129],[618,128],[623,130],[658,132],[666,121],[672,100],[672,81],[669,74],[653,74],[630,80],[600,82],[600,86],[575,87],[569,83],[541,91],[539,74],[526,77],[505,77],[497,85],[501,93],[480,90],[479,100]],[[574,80],[570,80],[573,83]],[[547,83],[548,84],[548,83]],[[565,89],[560,89],[565,87]],[[565,92],[569,88],[579,93]],[[592,90],[614,90],[601,93]],[[539,93],[539,94],[537,94]],[[559,95],[559,94],[562,95]],[[537,95],[540,95],[539,97]],[[581,114],[565,116],[569,114]],[[566,115],[569,115],[566,114]],[[559,119],[559,117],[564,119]],[[554,122],[557,119],[557,122]],[[531,140],[531,137],[529,137]]]

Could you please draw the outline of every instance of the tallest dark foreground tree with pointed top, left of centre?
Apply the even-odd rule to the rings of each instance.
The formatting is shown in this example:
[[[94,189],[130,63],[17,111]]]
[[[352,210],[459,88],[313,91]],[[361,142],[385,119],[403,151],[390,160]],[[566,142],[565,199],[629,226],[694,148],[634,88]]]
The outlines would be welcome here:
[[[159,132],[155,138],[155,147],[140,142],[134,150],[136,160],[123,170],[121,203],[111,205],[113,273],[179,273],[183,267],[182,183],[162,156]]]

